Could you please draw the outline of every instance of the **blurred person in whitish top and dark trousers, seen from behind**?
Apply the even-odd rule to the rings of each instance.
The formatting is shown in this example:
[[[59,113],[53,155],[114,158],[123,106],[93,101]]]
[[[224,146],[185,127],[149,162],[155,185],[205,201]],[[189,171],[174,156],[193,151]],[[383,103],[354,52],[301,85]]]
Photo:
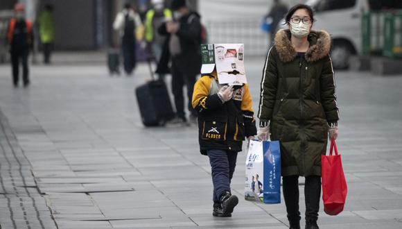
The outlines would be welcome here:
[[[130,3],[126,3],[123,10],[116,15],[113,28],[120,32],[121,47],[123,50],[123,65],[125,73],[130,76],[137,64],[136,40],[137,30],[141,28],[141,18],[134,11]]]

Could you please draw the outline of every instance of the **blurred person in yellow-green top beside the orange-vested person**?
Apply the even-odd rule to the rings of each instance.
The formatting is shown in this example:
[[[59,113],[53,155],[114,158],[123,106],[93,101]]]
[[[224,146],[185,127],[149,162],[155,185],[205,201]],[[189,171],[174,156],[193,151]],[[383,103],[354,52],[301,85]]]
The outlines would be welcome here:
[[[44,11],[42,11],[38,17],[39,21],[39,33],[40,41],[43,45],[43,53],[45,64],[51,62],[51,51],[53,50],[55,41],[55,25],[53,21],[53,6],[46,4]]]

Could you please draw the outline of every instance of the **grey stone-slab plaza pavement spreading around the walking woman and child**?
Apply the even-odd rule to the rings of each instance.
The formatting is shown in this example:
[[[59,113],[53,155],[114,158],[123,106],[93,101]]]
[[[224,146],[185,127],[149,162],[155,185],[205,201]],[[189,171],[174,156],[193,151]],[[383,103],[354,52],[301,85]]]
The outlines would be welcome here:
[[[263,60],[246,65],[254,108],[262,65]],[[211,216],[210,167],[198,151],[196,128],[141,125],[134,87],[146,81],[147,70],[139,65],[134,77],[110,77],[102,65],[35,66],[32,85],[14,89],[9,67],[0,66],[0,110],[8,119],[1,118],[3,131],[15,135],[13,145],[24,161],[23,172],[14,167],[11,173],[30,183],[28,198],[0,195],[3,228],[12,226],[10,207],[3,207],[7,201],[30,207],[33,199],[44,228],[287,228],[283,203],[241,198],[233,217]],[[338,72],[336,80],[342,118],[338,149],[349,193],[338,217],[320,212],[320,227],[402,228],[402,76]],[[7,143],[3,135],[0,139]],[[241,153],[232,183],[238,196],[244,162]],[[0,158],[2,180],[9,179],[7,163]],[[32,208],[29,220],[39,221]],[[24,225],[24,212],[12,215]]]

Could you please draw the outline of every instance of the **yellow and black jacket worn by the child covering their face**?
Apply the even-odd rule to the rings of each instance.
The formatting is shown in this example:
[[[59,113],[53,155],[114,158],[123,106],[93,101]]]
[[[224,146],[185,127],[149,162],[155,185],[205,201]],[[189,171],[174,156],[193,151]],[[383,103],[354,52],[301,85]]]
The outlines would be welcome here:
[[[214,71],[215,73],[215,71]],[[233,99],[222,103],[216,74],[202,76],[194,86],[193,108],[198,112],[200,151],[238,152],[245,137],[256,135],[252,97],[248,85],[235,90]]]

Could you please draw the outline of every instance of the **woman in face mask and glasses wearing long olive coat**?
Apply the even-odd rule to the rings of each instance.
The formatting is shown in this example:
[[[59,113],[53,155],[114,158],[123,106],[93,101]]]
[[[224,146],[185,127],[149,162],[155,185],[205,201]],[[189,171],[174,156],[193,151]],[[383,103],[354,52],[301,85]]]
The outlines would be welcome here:
[[[278,31],[261,80],[259,139],[281,143],[283,197],[290,228],[300,228],[299,176],[306,178],[306,228],[318,228],[321,155],[338,136],[338,106],[329,51],[331,38],[312,31],[313,10],[292,7],[289,29]]]

